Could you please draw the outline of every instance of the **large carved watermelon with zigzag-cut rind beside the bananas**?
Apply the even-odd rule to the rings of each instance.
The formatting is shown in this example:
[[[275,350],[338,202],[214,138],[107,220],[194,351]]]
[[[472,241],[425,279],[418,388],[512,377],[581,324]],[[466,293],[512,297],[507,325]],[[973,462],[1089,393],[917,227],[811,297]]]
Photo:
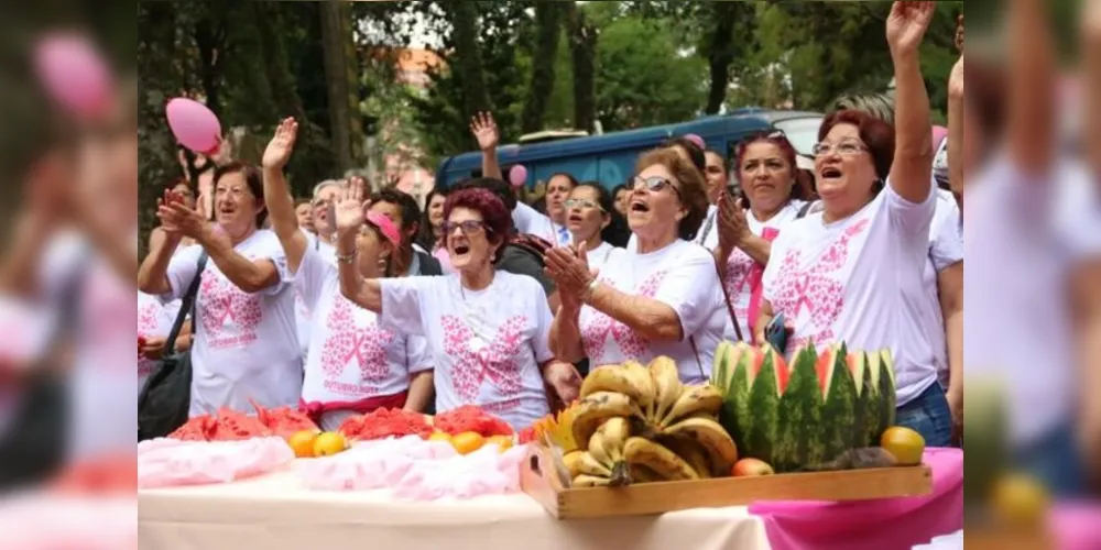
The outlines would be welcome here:
[[[890,352],[852,352],[838,344],[799,350],[788,367],[771,346],[723,342],[712,385],[724,395],[721,421],[742,457],[777,472],[816,468],[846,451],[877,446],[894,424]]]

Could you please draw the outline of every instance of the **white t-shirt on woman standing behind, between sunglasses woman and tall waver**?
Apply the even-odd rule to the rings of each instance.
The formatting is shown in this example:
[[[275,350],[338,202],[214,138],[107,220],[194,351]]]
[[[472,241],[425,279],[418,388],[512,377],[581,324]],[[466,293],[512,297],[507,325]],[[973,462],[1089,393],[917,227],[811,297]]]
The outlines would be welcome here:
[[[750,231],[754,235],[765,238],[767,240],[774,240],[775,234],[778,234],[785,226],[795,221],[799,217],[799,210],[806,202],[802,200],[792,200],[784,208],[782,208],[775,216],[770,218],[767,221],[761,221],[756,219],[752,210],[745,211],[745,221],[749,224]],[[713,207],[712,207],[713,208]],[[715,216],[718,216],[717,213]],[[705,221],[705,226],[707,222]],[[700,228],[702,231],[704,228]],[[765,232],[768,232],[766,235]],[[700,242],[697,238],[696,242]],[[719,227],[718,219],[716,218],[713,222],[713,228],[702,235],[702,242],[700,243],[707,250],[715,250],[719,246]],[[745,340],[753,339],[752,324],[756,322],[753,319],[760,311],[753,311],[751,314],[750,306],[753,298],[753,274],[754,268],[759,267],[755,260],[750,257],[742,249],[734,249],[730,253],[730,257],[727,258],[727,274],[723,277],[722,286],[727,290],[727,296],[730,297],[730,305],[734,309],[734,315],[738,317],[738,324],[742,331],[742,337]],[[763,268],[763,267],[762,267]],[[757,271],[756,273],[761,273]]]

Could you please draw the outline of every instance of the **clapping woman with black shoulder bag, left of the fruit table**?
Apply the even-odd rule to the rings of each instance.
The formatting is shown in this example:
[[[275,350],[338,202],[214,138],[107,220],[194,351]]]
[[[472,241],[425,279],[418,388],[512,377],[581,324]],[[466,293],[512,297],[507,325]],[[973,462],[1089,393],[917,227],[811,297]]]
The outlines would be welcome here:
[[[139,288],[165,300],[183,297],[201,277],[192,345],[190,415],[221,407],[253,410],[296,406],[302,395],[302,350],[294,316],[292,275],[271,231],[260,170],[239,163],[215,172],[215,222],[166,193],[157,209],[165,239],[150,251]],[[176,253],[184,238],[198,245]],[[200,272],[199,258],[209,262]]]

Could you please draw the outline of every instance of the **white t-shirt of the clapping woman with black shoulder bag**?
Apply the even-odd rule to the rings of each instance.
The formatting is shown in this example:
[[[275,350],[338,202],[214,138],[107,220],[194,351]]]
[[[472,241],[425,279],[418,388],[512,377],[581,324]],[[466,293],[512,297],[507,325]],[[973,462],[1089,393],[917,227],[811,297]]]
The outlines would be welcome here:
[[[257,231],[235,250],[250,261],[268,260],[280,282],[255,294],[235,286],[210,260],[196,299],[192,346],[190,415],[219,407],[251,411],[263,407],[297,407],[302,395],[302,349],[294,315],[294,287],[279,239]],[[179,299],[195,277],[203,250],[181,251],[168,264],[172,292]]]

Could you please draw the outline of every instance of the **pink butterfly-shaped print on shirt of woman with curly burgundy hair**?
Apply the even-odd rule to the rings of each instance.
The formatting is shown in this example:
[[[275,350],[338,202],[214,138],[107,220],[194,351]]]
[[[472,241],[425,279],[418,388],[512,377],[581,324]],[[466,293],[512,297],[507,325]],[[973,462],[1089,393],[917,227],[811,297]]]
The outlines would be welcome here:
[[[451,384],[460,399],[473,404],[486,378],[501,391],[505,399],[520,394],[520,367],[515,358],[527,327],[526,317],[510,317],[498,328],[493,341],[481,346],[473,344],[475,332],[461,319],[444,316],[440,326],[444,329],[444,352],[455,360]]]

